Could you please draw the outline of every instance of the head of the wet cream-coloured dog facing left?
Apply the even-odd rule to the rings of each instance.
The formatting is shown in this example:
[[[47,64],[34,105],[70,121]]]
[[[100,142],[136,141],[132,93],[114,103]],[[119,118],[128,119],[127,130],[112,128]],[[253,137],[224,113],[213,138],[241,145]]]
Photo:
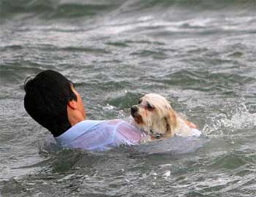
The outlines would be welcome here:
[[[149,93],[140,98],[138,105],[131,107],[131,115],[140,128],[156,138],[173,136],[176,114],[162,96]]]

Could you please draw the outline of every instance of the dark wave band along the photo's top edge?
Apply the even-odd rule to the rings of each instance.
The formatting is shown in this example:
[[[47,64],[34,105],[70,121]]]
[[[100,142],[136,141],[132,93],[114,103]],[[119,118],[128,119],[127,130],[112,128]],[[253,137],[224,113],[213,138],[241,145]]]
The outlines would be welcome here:
[[[189,0],[132,0],[132,1],[82,1],[82,0],[3,0],[0,2],[0,17],[13,18],[17,15],[39,17],[44,19],[93,17],[112,13],[135,14],[141,12],[175,12],[177,9],[198,11],[213,11],[239,9],[244,12],[255,10],[255,1],[189,1]]]

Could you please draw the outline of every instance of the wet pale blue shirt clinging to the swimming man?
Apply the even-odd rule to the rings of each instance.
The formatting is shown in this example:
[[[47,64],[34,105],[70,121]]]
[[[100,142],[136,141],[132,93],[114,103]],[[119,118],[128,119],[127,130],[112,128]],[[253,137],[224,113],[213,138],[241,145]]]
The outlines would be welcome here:
[[[143,135],[124,120],[83,120],[55,139],[63,147],[102,151],[139,144]]]

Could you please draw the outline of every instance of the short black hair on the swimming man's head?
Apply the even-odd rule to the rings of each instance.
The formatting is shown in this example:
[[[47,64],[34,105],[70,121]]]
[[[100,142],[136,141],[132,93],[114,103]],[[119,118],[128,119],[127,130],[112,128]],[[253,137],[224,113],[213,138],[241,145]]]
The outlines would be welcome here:
[[[68,101],[77,101],[71,89],[72,82],[59,72],[40,72],[25,82],[24,107],[26,112],[53,136],[63,134],[71,127],[67,117]]]

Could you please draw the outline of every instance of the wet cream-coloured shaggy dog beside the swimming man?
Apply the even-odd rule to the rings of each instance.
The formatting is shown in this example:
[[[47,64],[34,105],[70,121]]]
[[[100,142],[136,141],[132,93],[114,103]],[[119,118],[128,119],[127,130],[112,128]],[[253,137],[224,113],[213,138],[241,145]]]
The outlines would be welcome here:
[[[149,93],[131,107],[133,124],[151,136],[166,139],[174,135],[200,136],[197,125],[185,120],[173,110],[169,102],[159,94]]]

